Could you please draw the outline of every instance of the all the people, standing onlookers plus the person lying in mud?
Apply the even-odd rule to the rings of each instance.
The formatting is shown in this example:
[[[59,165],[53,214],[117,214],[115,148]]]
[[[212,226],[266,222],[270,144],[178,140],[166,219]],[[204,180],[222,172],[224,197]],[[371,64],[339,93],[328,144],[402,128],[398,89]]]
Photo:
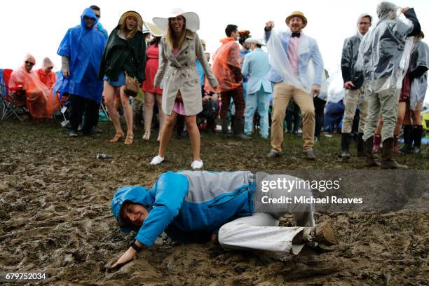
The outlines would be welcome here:
[[[407,20],[400,20],[397,11]],[[427,88],[429,48],[421,41],[424,35],[413,8],[399,10],[395,4],[381,2],[376,13],[379,22],[375,27],[372,15],[358,15],[356,34],[343,44],[341,73],[347,93],[339,157],[347,161],[351,156],[358,110],[357,156],[364,157],[369,167],[406,168],[393,155],[421,151],[420,113]],[[81,25],[67,30],[57,51],[62,59],[58,89],[70,102],[69,136],[77,137],[80,125],[83,134],[97,134],[104,100],[115,129],[111,142],[132,144],[134,128],[142,121],[142,139],[149,141],[157,107],[160,145],[150,164],[165,160],[175,126],[181,135],[186,125],[193,151],[191,168],[201,169],[200,118],[207,130],[214,132],[220,114],[223,136],[248,140],[257,111],[261,137],[268,139],[271,129],[269,158],[280,157],[285,150],[285,117],[292,121],[295,116],[294,131],[302,124],[304,158],[315,159],[313,147],[320,136],[326,104],[321,93],[328,75],[316,39],[303,32],[308,23],[304,13],[287,15],[287,31],[275,29],[273,21],[266,22],[264,40],[239,31],[237,25],[227,25],[212,65],[205,41],[197,34],[200,21],[194,12],[174,9],[151,23],[135,11],[127,11],[110,34],[100,24],[100,15],[99,7],[86,8]],[[11,102],[25,105],[34,118],[49,118],[60,107],[53,89],[57,81],[53,62],[45,58],[38,71],[32,70],[35,64],[34,57],[27,55],[22,67],[11,74]],[[291,102],[295,107],[290,107]],[[302,123],[292,109],[299,109]],[[287,129],[292,132],[292,125]],[[401,129],[404,147],[400,150]],[[374,157],[380,151],[381,163]],[[329,224],[315,226],[311,203],[285,203],[275,212],[258,209],[252,199],[257,182],[247,171],[181,171],[164,173],[150,190],[142,186],[119,189],[111,210],[121,230],[136,231],[137,236],[111,266],[120,267],[134,259],[137,251],[151,247],[163,231],[179,240],[210,236],[226,250],[292,250],[298,254],[305,244],[337,243]],[[276,190],[269,196],[311,194],[310,190],[294,189],[287,193]],[[297,226],[278,226],[286,212],[294,214]]]

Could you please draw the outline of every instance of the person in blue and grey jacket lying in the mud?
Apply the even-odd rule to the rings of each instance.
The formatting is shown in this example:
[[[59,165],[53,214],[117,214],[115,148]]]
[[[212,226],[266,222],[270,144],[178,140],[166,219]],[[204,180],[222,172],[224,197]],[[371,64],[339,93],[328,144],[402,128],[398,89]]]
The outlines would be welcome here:
[[[218,240],[224,250],[292,250],[299,254],[305,244],[337,243],[329,224],[315,226],[312,204],[292,202],[273,209],[255,203],[257,182],[270,176],[257,174],[169,171],[158,178],[152,189],[143,186],[118,189],[111,202],[111,211],[121,231],[136,231],[137,236],[111,268],[120,268],[135,259],[136,252],[151,247],[163,231],[173,240],[211,237]],[[265,195],[271,198],[310,197],[312,191],[277,189]],[[297,226],[278,226],[280,217],[287,212],[293,214]]]

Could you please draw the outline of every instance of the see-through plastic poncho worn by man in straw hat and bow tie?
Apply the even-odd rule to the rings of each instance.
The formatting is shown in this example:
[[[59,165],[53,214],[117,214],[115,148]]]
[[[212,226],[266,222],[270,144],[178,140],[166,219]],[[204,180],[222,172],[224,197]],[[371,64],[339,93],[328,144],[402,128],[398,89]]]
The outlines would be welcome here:
[[[285,50],[285,47],[282,45],[282,41],[280,40],[285,36],[285,34],[292,34],[292,32],[290,32],[290,29],[287,29],[286,31],[271,29],[270,37],[266,42],[271,67],[280,74],[283,82],[310,94],[315,76],[317,76],[315,75],[315,63],[313,62],[313,59],[309,57],[311,52],[310,38],[301,32],[298,47],[299,62],[301,60],[304,60],[304,62],[308,60],[308,64],[306,64],[306,74],[299,74],[299,72],[296,74],[293,71],[289,57],[287,57],[287,50]],[[322,90],[326,90],[326,76],[325,72],[323,72],[323,67],[321,71],[322,81],[320,86]]]

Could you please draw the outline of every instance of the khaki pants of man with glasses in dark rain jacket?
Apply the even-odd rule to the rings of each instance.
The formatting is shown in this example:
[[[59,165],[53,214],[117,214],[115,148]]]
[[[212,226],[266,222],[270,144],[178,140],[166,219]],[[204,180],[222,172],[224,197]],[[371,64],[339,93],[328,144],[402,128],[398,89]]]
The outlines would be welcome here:
[[[357,102],[364,93],[364,87],[357,90],[348,90],[346,102],[344,102],[345,111],[343,119],[342,133],[350,133],[353,126],[353,118],[355,118]],[[359,104],[359,132],[364,132],[365,120],[368,113],[368,102],[364,101]]]

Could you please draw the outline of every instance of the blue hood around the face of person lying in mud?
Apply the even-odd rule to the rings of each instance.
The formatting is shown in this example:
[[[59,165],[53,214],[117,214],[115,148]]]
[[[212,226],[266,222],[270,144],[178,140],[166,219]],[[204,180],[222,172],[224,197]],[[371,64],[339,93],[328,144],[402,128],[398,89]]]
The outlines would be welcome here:
[[[155,191],[154,189],[149,191],[144,186],[123,186],[118,189],[111,200],[111,212],[114,214],[116,222],[118,222],[118,216],[125,200],[144,205],[149,212],[155,201]],[[138,231],[139,229],[137,226],[120,226],[120,228],[124,232]]]

